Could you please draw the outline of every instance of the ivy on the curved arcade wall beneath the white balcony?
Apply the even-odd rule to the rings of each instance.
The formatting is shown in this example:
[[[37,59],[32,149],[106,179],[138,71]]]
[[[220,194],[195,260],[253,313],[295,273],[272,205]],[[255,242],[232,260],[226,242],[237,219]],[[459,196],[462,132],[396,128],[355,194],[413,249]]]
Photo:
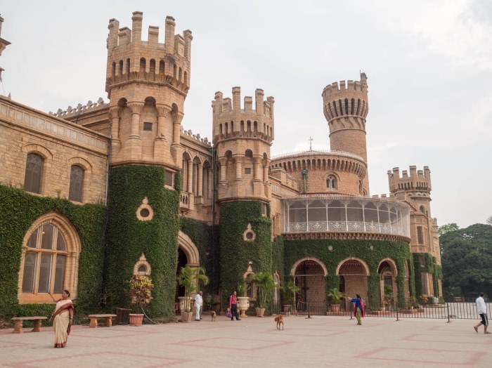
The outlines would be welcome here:
[[[328,246],[332,246],[332,251]],[[373,249],[371,249],[371,246]],[[398,275],[398,301],[403,305],[405,296],[403,287],[405,282],[405,262],[409,261],[410,268],[410,295],[415,296],[415,281],[411,277],[413,272],[413,256],[410,247],[404,242],[386,242],[378,240],[284,240],[285,275],[290,271],[296,261],[306,257],[318,258],[328,269],[326,278],[326,291],[339,287],[339,276],[335,275],[337,265],[348,257],[361,258],[368,263],[370,275],[368,277],[368,296],[370,308],[380,308],[380,277],[377,268],[384,258],[392,258],[396,262]]]

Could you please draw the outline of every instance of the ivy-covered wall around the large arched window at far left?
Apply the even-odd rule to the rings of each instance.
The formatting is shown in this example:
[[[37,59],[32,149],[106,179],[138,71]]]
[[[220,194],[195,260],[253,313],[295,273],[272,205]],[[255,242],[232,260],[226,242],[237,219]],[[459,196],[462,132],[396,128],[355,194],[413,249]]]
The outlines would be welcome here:
[[[22,315],[49,316],[53,313],[54,302],[18,303],[22,239],[37,218],[51,212],[59,213],[72,223],[82,246],[78,298],[74,301],[76,322],[81,315],[101,310],[105,206],[72,204],[67,199],[39,197],[0,185],[0,212],[0,319],[10,320]]]

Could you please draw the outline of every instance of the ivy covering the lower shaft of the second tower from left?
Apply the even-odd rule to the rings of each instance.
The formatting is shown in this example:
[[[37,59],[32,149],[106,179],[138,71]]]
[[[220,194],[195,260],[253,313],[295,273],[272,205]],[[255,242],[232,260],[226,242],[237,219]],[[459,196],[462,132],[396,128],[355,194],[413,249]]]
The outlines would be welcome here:
[[[220,280],[224,301],[242,282],[250,261],[254,272],[272,272],[271,220],[262,216],[262,205],[259,201],[221,204]],[[252,240],[243,239],[248,223],[255,234]]]

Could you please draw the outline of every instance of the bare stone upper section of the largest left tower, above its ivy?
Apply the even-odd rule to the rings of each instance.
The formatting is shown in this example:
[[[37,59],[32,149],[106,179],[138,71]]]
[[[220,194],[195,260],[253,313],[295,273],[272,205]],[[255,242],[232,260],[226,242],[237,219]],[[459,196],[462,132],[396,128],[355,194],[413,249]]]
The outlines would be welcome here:
[[[108,25],[106,91],[110,99],[112,166],[157,164],[181,169],[180,128],[190,87],[190,30],[174,34],[166,17],[165,42],[150,26],[142,41],[142,18],[133,13],[132,29]]]

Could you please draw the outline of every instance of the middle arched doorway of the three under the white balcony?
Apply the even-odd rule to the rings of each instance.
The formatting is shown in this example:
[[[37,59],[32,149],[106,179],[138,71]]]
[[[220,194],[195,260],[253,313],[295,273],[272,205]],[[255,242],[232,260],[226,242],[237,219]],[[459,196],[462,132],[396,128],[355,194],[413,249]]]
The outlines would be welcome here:
[[[369,268],[365,262],[356,258],[346,259],[339,264],[337,275],[340,277],[340,291],[345,292],[349,298],[359,294],[363,305],[368,304]],[[348,301],[345,301],[344,307],[350,308]]]

